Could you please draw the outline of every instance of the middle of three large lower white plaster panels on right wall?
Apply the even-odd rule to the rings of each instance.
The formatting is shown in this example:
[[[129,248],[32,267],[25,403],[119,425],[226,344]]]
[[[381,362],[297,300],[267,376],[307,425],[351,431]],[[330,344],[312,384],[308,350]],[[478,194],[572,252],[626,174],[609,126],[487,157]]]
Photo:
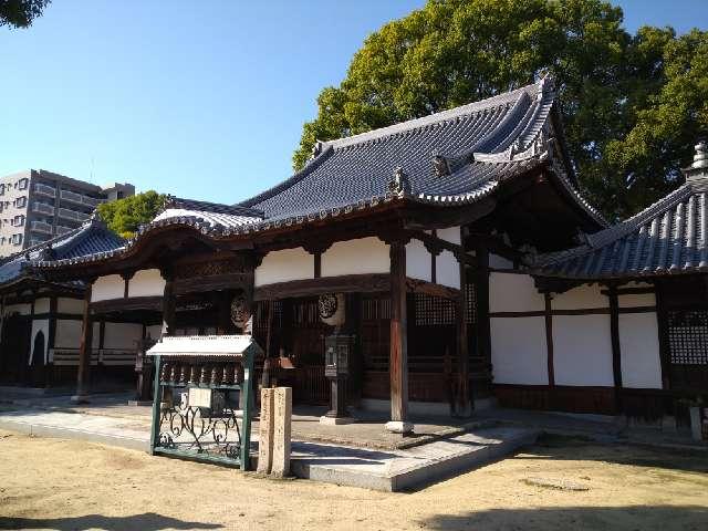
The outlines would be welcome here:
[[[558,385],[612,386],[610,315],[553,315]]]

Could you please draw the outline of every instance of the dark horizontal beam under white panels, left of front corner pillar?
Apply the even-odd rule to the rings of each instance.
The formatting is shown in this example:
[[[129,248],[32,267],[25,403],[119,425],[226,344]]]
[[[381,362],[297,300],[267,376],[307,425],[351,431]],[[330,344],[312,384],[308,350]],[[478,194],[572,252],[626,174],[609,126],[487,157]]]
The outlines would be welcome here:
[[[391,289],[391,277],[386,273],[345,274],[320,279],[292,280],[256,288],[256,301],[320,295],[322,293],[376,293]]]

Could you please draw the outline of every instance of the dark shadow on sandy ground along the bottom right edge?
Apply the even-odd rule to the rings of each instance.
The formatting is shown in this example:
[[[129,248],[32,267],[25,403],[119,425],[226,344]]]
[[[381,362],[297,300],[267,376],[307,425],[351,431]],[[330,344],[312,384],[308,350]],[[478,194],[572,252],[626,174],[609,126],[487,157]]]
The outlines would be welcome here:
[[[492,509],[466,514],[440,514],[419,522],[428,530],[627,530],[705,531],[708,508],[698,506],[563,507]]]

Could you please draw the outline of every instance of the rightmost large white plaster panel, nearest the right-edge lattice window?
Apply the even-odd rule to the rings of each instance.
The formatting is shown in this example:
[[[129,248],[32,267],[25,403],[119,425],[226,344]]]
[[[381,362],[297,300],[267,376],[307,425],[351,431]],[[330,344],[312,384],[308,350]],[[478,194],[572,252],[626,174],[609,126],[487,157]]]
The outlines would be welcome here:
[[[662,388],[656,313],[621,313],[620,350],[623,387]]]

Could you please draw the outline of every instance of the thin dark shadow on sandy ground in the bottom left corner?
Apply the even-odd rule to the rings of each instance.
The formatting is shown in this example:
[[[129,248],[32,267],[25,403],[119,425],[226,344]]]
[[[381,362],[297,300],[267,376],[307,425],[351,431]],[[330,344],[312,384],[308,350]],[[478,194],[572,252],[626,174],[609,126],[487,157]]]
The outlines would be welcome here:
[[[154,512],[129,517],[104,517],[85,514],[73,518],[4,518],[0,517],[0,529],[51,529],[55,531],[82,531],[101,529],[105,531],[160,531],[164,529],[222,529],[218,523],[187,522]]]

